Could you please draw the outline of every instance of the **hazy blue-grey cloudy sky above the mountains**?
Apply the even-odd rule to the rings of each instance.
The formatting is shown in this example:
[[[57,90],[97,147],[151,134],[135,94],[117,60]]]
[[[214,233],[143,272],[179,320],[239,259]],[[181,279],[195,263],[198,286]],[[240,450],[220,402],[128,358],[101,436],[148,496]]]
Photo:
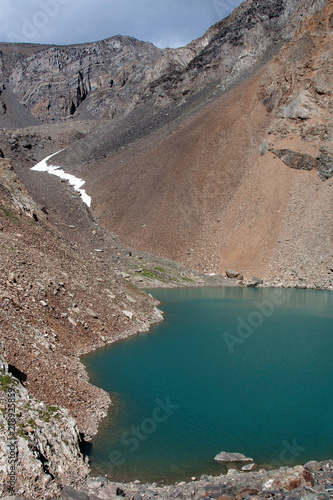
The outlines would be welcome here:
[[[241,0],[0,0],[0,42],[68,45],[133,36],[182,47]]]

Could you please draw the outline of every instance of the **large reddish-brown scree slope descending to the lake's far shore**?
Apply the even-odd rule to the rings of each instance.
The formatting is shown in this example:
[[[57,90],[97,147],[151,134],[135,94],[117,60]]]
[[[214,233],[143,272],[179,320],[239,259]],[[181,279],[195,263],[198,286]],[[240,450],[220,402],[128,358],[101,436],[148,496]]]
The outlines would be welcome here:
[[[292,155],[307,153],[317,162],[324,148],[330,165],[331,129],[318,123],[331,119],[331,93],[316,85],[327,79],[331,19],[328,2],[250,80],[100,160],[86,175],[92,208],[103,224],[135,248],[196,269],[231,267],[248,278],[331,286],[331,173],[322,180],[315,170],[291,169],[273,152],[265,153],[274,146]],[[310,74],[304,43],[309,39],[316,54]],[[283,71],[297,54],[296,79]],[[285,79],[288,91],[280,85],[274,97]],[[303,116],[309,87],[314,111]]]

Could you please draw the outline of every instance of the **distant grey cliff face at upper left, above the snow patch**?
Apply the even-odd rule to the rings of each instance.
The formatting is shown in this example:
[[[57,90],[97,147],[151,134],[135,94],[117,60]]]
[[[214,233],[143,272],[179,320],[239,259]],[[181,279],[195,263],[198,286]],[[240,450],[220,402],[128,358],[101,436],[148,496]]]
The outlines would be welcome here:
[[[87,115],[113,117],[135,103],[159,54],[153,45],[129,37],[50,47],[18,62],[9,82],[40,120],[73,116],[83,103]]]

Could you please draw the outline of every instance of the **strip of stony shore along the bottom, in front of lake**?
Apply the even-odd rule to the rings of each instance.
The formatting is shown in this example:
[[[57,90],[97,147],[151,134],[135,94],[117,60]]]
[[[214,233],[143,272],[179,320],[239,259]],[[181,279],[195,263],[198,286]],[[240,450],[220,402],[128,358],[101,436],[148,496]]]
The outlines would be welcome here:
[[[148,500],[161,498],[220,500],[329,500],[333,497],[333,461],[308,462],[294,468],[281,467],[274,471],[239,472],[229,469],[227,475],[203,475],[199,481],[180,482],[172,486],[157,483],[141,485],[107,482],[104,478],[91,478],[80,494],[70,488],[61,493],[64,500]]]

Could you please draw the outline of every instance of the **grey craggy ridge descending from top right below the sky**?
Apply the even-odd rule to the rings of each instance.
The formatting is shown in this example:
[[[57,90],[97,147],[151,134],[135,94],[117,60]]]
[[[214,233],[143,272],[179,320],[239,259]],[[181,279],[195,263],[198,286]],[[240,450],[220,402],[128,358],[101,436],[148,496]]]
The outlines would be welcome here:
[[[248,76],[292,36],[306,15],[325,1],[248,0],[188,47],[192,59],[180,71],[169,71],[149,86],[150,92],[179,100],[216,81],[220,91]],[[175,51],[177,54],[177,51]]]

